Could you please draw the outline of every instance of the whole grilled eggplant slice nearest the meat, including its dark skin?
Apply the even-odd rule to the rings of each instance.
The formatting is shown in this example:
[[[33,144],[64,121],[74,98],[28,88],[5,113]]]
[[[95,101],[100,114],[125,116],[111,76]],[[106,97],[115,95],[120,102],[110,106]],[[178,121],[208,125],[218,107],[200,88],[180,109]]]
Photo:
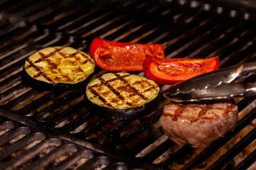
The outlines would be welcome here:
[[[107,118],[128,120],[154,111],[159,106],[159,91],[159,86],[146,77],[107,73],[87,84],[85,108]]]

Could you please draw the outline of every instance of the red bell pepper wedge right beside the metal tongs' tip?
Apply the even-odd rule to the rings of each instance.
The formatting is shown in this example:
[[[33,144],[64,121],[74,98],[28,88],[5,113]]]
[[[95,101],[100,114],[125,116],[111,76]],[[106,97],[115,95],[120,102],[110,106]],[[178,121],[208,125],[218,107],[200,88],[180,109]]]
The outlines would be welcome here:
[[[176,84],[199,74],[218,69],[219,57],[207,59],[164,58],[146,55],[143,69],[146,77],[157,84]]]

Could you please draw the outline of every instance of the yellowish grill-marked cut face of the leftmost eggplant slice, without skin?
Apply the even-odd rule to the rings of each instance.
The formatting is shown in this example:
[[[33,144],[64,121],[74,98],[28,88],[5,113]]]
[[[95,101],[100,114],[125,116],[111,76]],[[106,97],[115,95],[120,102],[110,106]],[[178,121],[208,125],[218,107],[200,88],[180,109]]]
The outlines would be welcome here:
[[[76,49],[72,50],[72,47],[48,47],[48,50],[39,50],[33,55],[29,56],[24,64],[24,72],[27,72],[28,76],[33,79],[44,77],[46,80],[38,79],[38,81],[46,81],[50,84],[55,84],[60,81],[84,81],[89,75],[90,70],[87,73],[87,69],[84,70],[84,64],[87,63],[95,65],[90,56],[79,55],[80,52]],[[30,62],[28,62],[30,60]],[[86,60],[92,60],[88,62]],[[46,65],[42,67],[41,64]],[[65,67],[67,65],[68,67]],[[80,67],[81,65],[81,67]],[[61,69],[61,68],[64,68]],[[33,68],[30,70],[30,68]],[[74,77],[74,81],[73,81]],[[72,84],[72,83],[71,83]]]

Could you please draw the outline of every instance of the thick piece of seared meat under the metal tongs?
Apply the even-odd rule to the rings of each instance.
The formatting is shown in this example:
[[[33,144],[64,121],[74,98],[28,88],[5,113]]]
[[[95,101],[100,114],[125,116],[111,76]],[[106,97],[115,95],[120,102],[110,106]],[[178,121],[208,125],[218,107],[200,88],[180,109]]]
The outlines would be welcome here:
[[[232,130],[238,106],[232,101],[169,103],[161,115],[161,128],[178,145],[203,147]]]

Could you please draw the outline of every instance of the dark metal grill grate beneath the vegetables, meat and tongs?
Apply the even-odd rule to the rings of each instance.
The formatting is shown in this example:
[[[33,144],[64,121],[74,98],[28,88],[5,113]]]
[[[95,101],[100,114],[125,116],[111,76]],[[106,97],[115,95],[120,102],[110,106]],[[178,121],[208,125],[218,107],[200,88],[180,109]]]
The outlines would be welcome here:
[[[255,169],[255,97],[235,100],[234,130],[194,149],[161,131],[163,97],[142,118],[108,120],[87,112],[85,88],[39,91],[21,80],[26,57],[36,50],[70,46],[89,54],[96,37],[159,43],[166,57],[219,55],[220,67],[253,62],[255,11],[254,1],[238,0],[1,0],[1,169]],[[95,77],[105,72],[97,68]]]

